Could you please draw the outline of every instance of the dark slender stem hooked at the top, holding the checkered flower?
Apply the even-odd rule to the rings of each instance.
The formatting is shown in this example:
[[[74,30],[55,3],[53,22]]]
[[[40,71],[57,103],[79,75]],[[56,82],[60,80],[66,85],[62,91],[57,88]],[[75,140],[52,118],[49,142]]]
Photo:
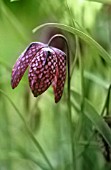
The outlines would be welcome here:
[[[69,57],[69,45],[66,37],[61,34],[56,34],[51,37],[51,39],[48,42],[48,45],[50,46],[51,42],[55,38],[62,38],[66,43],[67,48],[67,65],[68,65],[68,85],[67,85],[67,92],[68,92],[68,98],[67,98],[67,104],[68,104],[68,117],[69,117],[69,124],[70,124],[70,140],[71,140],[71,152],[72,152],[72,169],[74,169],[74,162],[75,162],[75,154],[74,154],[74,141],[73,141],[73,123],[72,123],[72,114],[71,114],[71,95],[70,95],[70,57]]]

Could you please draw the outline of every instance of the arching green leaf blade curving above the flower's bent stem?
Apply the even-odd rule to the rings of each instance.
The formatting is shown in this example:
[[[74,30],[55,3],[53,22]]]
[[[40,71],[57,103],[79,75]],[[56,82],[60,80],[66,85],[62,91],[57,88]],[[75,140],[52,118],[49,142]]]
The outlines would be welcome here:
[[[60,23],[46,23],[34,28],[32,32],[35,33],[36,31],[44,27],[57,27],[77,35],[79,38],[83,39],[86,43],[88,43],[90,46],[96,49],[98,53],[104,58],[104,60],[111,66],[111,56],[107,53],[107,51],[104,50],[104,48],[101,45],[99,45],[92,37],[90,37],[88,34],[84,33],[83,31],[80,31],[79,29]]]

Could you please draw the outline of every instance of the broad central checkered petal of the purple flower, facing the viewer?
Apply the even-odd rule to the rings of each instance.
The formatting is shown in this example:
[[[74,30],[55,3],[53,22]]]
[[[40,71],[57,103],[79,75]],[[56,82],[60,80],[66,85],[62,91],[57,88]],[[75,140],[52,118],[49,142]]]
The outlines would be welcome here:
[[[52,84],[57,67],[57,55],[51,48],[41,48],[30,63],[29,85],[35,97]]]

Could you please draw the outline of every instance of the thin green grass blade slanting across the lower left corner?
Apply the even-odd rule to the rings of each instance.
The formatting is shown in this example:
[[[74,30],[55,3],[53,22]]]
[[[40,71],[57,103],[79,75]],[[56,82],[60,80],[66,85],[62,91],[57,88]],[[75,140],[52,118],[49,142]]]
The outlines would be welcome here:
[[[27,133],[30,136],[30,138],[32,139],[33,143],[35,144],[35,146],[39,149],[41,155],[44,157],[45,161],[47,162],[47,164],[49,165],[51,170],[54,170],[53,166],[51,165],[48,157],[46,156],[42,146],[39,144],[39,142],[37,141],[37,139],[34,137],[34,135],[32,134],[30,128],[28,127],[24,117],[22,116],[21,112],[19,111],[19,109],[16,107],[16,105],[14,104],[14,102],[11,100],[11,98],[3,91],[0,89],[0,92],[10,101],[11,105],[13,106],[13,108],[16,110],[16,112],[18,113],[19,117],[21,118],[22,122],[24,123]]]

